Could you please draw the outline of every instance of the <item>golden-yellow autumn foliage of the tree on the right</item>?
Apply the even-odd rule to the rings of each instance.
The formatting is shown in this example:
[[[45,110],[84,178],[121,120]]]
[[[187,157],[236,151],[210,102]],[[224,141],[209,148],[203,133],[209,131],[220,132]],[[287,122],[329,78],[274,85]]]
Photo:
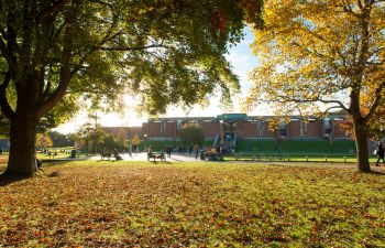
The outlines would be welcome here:
[[[351,7],[356,2],[350,2]],[[261,58],[251,79],[254,88],[246,98],[270,100],[274,107],[288,112],[288,103],[308,100],[340,100],[349,97],[346,89],[355,80],[362,37],[362,21],[355,14],[341,10],[341,2],[324,1],[265,1],[264,29],[255,31],[253,52]],[[353,11],[362,11],[353,8]],[[378,6],[371,10],[370,48],[371,65],[362,64],[362,85],[373,90],[383,82],[385,71],[378,64],[385,53],[383,33],[385,22]],[[375,64],[377,63],[377,64]],[[365,87],[363,87],[364,89]],[[373,93],[373,91],[372,91]],[[362,99],[363,105],[367,101]],[[345,100],[344,100],[345,101]],[[346,101],[345,101],[346,103]],[[305,106],[305,105],[304,105]],[[306,108],[310,107],[305,106]],[[294,108],[293,108],[294,109]]]

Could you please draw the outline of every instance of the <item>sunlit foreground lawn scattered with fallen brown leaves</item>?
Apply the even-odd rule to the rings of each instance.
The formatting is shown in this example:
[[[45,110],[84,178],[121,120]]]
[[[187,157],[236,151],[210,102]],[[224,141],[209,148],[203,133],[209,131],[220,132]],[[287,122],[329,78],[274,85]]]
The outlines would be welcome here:
[[[0,186],[0,244],[381,247],[385,175],[258,163],[77,162]],[[1,247],[0,245],[0,247]]]

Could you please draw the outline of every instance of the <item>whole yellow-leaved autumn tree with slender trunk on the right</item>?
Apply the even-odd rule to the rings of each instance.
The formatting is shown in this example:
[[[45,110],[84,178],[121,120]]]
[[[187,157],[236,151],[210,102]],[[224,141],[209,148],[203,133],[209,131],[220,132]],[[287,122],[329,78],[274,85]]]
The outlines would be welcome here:
[[[358,168],[370,171],[367,126],[385,96],[384,14],[383,0],[265,1],[248,103],[268,100],[284,116],[343,109]]]

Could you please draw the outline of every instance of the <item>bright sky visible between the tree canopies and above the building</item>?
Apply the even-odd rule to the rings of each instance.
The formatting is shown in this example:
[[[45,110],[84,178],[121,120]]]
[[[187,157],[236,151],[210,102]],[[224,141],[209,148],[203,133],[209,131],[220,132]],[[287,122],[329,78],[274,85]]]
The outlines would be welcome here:
[[[220,114],[229,114],[229,112],[241,112],[240,103],[248,95],[248,90],[252,86],[252,82],[249,80],[249,74],[253,71],[253,68],[257,65],[257,58],[253,55],[251,44],[254,41],[254,34],[252,30],[246,26],[244,29],[244,37],[243,40],[237,44],[237,46],[230,47],[229,54],[226,55],[227,60],[230,62],[233,72],[240,78],[241,85],[241,94],[234,96],[233,98],[233,109],[221,109],[219,98],[215,97],[210,100],[208,107],[202,108],[201,106],[195,106],[189,109],[188,114],[186,114],[180,107],[174,106],[170,107],[165,117],[215,117]],[[124,110],[121,114],[111,112],[111,114],[102,114],[99,112],[99,123],[103,127],[140,127],[142,122],[147,120],[146,115],[139,115],[135,112],[132,103],[135,103],[135,99],[131,96],[124,97]],[[248,112],[249,115],[268,115],[263,108],[254,109],[252,112]],[[91,121],[87,118],[87,110],[81,111],[78,116],[76,116],[68,123],[62,125],[56,128],[57,131],[68,133],[74,132],[81,125],[87,121]]]

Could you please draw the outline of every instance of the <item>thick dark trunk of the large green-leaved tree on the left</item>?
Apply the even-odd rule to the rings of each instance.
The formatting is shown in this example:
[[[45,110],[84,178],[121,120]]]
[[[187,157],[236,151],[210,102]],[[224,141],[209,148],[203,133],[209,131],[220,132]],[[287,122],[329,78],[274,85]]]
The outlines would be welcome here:
[[[16,118],[11,122],[11,147],[6,175],[31,176],[36,172],[36,121],[31,118]]]

